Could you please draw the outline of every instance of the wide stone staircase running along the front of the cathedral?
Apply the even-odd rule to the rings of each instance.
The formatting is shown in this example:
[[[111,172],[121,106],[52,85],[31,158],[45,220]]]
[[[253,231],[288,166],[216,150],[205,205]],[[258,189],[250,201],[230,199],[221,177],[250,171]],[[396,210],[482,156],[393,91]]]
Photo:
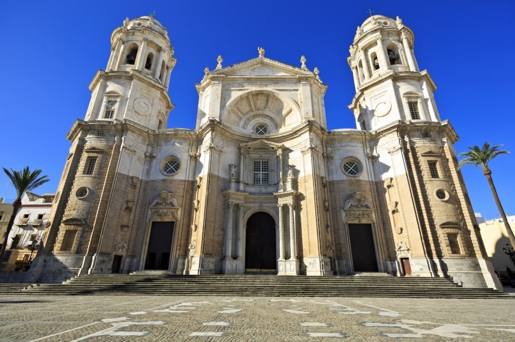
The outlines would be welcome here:
[[[135,272],[82,275],[62,284],[0,284],[0,294],[180,295],[285,297],[515,298],[493,289],[462,287],[443,278],[356,276],[201,275]]]

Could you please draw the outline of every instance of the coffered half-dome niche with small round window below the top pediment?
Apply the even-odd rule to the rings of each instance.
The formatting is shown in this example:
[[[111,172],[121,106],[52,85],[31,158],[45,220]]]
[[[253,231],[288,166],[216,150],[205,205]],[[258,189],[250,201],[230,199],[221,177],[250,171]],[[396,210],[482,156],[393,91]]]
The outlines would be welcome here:
[[[227,102],[221,122],[249,133],[279,133],[301,123],[299,105],[291,98],[272,91],[249,91]],[[260,127],[257,130],[256,128]]]

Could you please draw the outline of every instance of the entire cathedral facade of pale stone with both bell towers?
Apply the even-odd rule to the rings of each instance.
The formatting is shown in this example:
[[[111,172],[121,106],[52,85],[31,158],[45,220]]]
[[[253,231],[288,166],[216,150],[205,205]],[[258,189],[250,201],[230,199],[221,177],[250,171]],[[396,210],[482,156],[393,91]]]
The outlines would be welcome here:
[[[32,281],[176,274],[452,277],[497,287],[413,32],[374,15],[348,63],[356,129],[327,130],[301,58],[206,68],[195,130],[166,129],[176,59],[153,17],[125,20],[90,84]],[[349,80],[351,81],[351,80]]]

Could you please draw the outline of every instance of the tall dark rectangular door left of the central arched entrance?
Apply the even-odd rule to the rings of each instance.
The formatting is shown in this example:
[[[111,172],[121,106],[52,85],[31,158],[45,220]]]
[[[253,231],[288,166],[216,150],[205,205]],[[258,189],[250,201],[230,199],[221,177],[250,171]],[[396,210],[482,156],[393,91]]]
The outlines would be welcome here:
[[[145,269],[168,269],[175,222],[152,222]]]

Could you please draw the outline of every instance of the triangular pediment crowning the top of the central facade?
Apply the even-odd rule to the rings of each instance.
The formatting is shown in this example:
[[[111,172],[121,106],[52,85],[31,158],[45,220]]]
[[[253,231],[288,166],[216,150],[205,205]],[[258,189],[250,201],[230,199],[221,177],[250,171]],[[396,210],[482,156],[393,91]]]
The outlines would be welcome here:
[[[313,75],[313,72],[293,65],[258,57],[211,71],[211,75],[225,76],[299,76]]]

